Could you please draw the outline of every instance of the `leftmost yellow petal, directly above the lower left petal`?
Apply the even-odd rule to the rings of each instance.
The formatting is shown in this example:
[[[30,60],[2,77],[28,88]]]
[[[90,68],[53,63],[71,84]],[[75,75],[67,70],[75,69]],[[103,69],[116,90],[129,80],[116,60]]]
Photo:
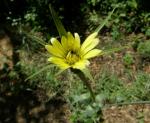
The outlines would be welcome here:
[[[63,54],[60,52],[60,50],[58,48],[55,48],[52,45],[45,45],[45,48],[53,56],[63,57]]]

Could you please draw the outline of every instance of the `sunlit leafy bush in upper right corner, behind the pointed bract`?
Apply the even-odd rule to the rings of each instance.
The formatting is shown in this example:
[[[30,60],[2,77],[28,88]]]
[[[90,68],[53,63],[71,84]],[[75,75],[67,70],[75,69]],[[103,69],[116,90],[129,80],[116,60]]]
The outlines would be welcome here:
[[[149,12],[141,9],[142,4],[138,0],[87,0],[90,16],[87,16],[87,24],[92,29],[101,22],[106,13],[114,6],[118,6],[111,20],[107,24],[107,28],[111,30],[113,38],[116,38],[119,33],[144,32],[148,34],[150,26]],[[91,10],[90,10],[91,9]],[[106,29],[107,29],[106,28]],[[119,30],[119,31],[117,31]]]

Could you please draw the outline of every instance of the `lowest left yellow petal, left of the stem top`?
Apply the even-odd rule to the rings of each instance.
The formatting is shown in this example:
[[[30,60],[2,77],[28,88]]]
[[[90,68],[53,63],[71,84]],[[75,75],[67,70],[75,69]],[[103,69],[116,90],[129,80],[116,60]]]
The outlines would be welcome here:
[[[58,67],[60,67],[61,69],[65,70],[68,69],[70,66],[68,64],[65,63],[64,59],[58,58],[58,57],[50,57],[48,59],[49,62],[57,65]]]

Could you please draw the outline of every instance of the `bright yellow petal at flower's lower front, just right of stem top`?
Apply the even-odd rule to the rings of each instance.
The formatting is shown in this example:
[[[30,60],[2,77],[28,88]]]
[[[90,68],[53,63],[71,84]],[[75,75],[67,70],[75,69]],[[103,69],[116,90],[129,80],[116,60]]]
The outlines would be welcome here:
[[[88,60],[80,60],[80,61],[76,62],[76,63],[72,66],[72,68],[83,70],[83,69],[85,69],[89,64],[90,64],[90,62],[89,62]]]

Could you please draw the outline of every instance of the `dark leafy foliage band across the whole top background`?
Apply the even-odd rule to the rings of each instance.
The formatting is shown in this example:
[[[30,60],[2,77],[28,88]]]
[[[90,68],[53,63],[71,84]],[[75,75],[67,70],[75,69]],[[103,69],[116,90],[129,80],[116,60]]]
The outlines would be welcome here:
[[[87,29],[88,25],[89,29],[93,31],[93,29],[106,18],[108,12],[115,6],[118,6],[105,26],[105,29],[103,29],[104,32],[105,30],[110,31],[114,39],[119,37],[119,32],[143,32],[149,36],[149,8],[145,11],[144,5],[141,4],[143,3],[141,0],[86,0],[84,2],[74,0],[71,3],[76,3],[76,6],[71,4],[71,7],[67,5],[68,1],[31,0],[25,1],[24,5],[17,2],[18,1],[13,1],[14,7],[19,5],[18,9],[22,11],[19,12],[19,10],[15,9],[8,13],[2,12],[2,18],[5,22],[8,21],[11,23],[12,26],[28,26],[28,28],[34,31],[51,31],[51,33],[55,34],[56,30],[53,30],[54,24],[48,7],[49,4],[52,4],[54,8],[57,8],[57,12],[61,16],[61,19],[74,19],[69,20],[70,22],[63,19],[64,24],[69,23],[65,25],[65,27],[71,27],[69,30],[82,33],[83,29]],[[9,8],[11,2],[2,2],[1,5],[2,8],[5,7],[6,9],[6,7]],[[73,13],[70,14],[68,10]],[[78,17],[76,18],[74,16]],[[79,29],[76,25],[82,25],[82,28]]]

